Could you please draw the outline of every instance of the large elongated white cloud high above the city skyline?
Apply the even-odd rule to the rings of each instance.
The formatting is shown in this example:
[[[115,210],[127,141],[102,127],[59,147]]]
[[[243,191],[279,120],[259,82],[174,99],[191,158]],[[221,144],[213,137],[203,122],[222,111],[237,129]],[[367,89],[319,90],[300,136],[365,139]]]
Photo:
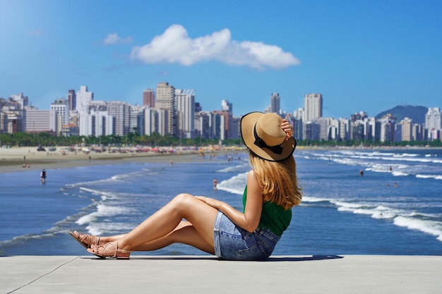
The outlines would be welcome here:
[[[234,66],[282,69],[300,63],[291,53],[275,45],[234,41],[227,29],[191,39],[182,25],[171,25],[149,44],[133,47],[130,56],[144,63],[180,63],[184,66],[216,60]]]

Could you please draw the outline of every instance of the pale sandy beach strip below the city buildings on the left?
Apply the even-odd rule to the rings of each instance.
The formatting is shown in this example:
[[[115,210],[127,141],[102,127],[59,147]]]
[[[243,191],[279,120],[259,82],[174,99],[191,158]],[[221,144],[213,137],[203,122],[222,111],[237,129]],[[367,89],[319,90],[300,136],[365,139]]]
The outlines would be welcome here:
[[[83,152],[81,148],[66,152],[68,147],[56,147],[55,151],[37,151],[37,147],[0,148],[0,173],[11,171],[28,171],[41,169],[67,169],[76,166],[114,164],[115,161],[146,161],[146,162],[182,162],[203,160],[204,157],[215,156],[220,152],[231,150],[203,149],[204,157],[198,150],[176,148],[168,152],[169,147],[159,148],[165,152]]]

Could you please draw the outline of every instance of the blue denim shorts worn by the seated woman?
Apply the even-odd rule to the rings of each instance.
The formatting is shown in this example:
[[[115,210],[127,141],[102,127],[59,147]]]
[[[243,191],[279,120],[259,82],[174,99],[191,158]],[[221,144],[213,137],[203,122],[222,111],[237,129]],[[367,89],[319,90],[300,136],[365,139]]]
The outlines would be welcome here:
[[[215,255],[227,260],[264,260],[272,254],[280,236],[267,228],[253,233],[236,226],[222,212],[218,212],[213,228]]]

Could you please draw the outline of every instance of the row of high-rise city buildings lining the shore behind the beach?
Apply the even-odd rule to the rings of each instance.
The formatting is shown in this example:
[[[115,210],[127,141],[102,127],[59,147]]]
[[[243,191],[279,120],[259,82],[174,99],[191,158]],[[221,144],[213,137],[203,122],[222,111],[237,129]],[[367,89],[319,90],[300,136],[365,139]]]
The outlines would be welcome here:
[[[29,106],[23,94],[1,103],[0,133],[53,133],[71,135],[172,135],[181,138],[204,137],[219,140],[239,137],[239,117],[232,113],[233,104],[222,100],[221,110],[202,111],[195,102],[194,90],[176,89],[168,82],[159,82],[156,95],[149,90],[155,101],[148,101],[143,91],[143,105],[133,106],[128,102],[96,101],[88,86],[80,90],[68,90],[69,100],[57,99],[50,111],[36,110]],[[147,103],[145,103],[147,102]],[[146,104],[155,103],[155,109]],[[76,105],[69,109],[71,105]],[[394,114],[374,118],[363,111],[349,118],[325,118],[322,116],[323,99],[318,93],[306,94],[304,109],[280,113],[280,97],[273,93],[270,106],[265,112],[278,112],[294,128],[297,140],[369,140],[371,142],[401,142],[440,140],[441,110],[429,108],[425,122],[417,123],[412,118],[396,120]],[[421,108],[422,109],[422,108]],[[425,109],[425,108],[424,108]],[[414,117],[413,117],[414,118]],[[416,118],[417,119],[417,118]]]

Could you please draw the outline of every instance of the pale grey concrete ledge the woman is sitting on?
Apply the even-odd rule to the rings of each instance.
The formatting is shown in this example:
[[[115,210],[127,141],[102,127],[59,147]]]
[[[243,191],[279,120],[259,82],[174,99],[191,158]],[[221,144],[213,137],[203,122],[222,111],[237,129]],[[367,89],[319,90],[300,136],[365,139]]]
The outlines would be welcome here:
[[[442,293],[442,256],[0,257],[0,293]]]

